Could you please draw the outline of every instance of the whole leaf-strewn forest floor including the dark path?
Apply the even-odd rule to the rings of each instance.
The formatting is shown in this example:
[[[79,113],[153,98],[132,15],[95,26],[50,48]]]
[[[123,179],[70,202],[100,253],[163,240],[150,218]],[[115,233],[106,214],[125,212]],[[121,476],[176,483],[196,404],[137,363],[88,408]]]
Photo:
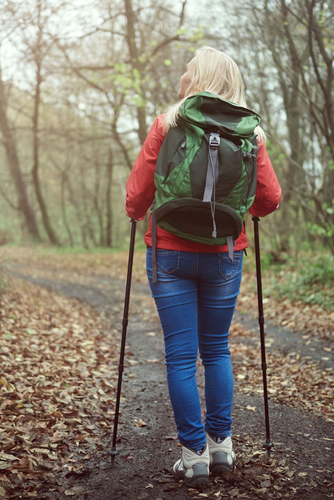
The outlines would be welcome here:
[[[175,482],[179,449],[164,349],[135,253],[121,413],[111,447],[126,253],[0,248],[0,498],[166,500],[334,497],[334,313],[265,299],[265,441],[257,299],[245,271],[230,329],[235,379],[233,473],[208,488]],[[267,319],[268,318],[268,319]],[[270,320],[269,320],[270,318]],[[203,367],[197,385],[204,403]],[[204,405],[203,405],[204,408]]]

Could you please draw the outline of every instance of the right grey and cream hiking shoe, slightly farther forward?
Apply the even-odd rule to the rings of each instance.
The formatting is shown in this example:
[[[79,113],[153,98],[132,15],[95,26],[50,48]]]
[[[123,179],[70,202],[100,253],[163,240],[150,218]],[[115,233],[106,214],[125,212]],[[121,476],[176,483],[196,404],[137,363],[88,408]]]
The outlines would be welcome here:
[[[232,451],[232,440],[227,437],[213,437],[207,434],[207,446],[210,455],[210,472],[232,472],[236,464],[236,457]]]

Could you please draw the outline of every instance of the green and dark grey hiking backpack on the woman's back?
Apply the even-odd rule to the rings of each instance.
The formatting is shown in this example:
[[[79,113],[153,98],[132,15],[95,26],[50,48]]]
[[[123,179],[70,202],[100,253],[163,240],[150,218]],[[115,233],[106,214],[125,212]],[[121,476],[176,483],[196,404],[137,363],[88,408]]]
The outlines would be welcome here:
[[[240,235],[256,188],[260,117],[209,92],[188,97],[156,160],[152,209],[152,269],[156,224],[189,241],[228,245]]]

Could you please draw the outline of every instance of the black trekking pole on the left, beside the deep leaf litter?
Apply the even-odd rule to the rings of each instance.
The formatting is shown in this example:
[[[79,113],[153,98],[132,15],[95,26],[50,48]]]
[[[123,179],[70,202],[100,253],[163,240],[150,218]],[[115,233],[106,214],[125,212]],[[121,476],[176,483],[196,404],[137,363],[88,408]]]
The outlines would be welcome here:
[[[130,287],[131,287],[131,276],[132,276],[132,263],[133,263],[133,252],[134,252],[134,239],[135,239],[135,227],[137,220],[130,220],[131,226],[131,237],[130,237],[130,248],[128,252],[128,263],[127,263],[127,276],[126,276],[126,287],[125,287],[125,300],[124,300],[124,314],[122,320],[122,338],[120,344],[120,354],[119,354],[119,364],[118,364],[118,383],[117,383],[117,395],[116,395],[116,407],[115,407],[115,418],[113,421],[113,435],[112,435],[112,447],[111,450],[107,451],[107,454],[111,456],[111,467],[113,467],[113,462],[115,456],[118,455],[116,450],[116,439],[117,439],[117,426],[118,426],[118,415],[119,415],[119,401],[120,401],[120,387],[122,383],[122,373],[124,369],[124,352],[125,352],[125,340],[126,340],[126,327],[128,323],[128,305],[130,301]]]

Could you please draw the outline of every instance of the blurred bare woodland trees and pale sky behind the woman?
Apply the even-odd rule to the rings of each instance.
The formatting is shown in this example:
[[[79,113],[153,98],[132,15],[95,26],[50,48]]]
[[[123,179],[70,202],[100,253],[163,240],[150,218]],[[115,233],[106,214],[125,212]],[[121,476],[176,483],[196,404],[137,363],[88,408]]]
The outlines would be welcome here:
[[[126,178],[202,44],[239,64],[268,134],[283,199],[266,250],[334,252],[334,5],[320,0],[2,1],[0,243],[122,248]]]

